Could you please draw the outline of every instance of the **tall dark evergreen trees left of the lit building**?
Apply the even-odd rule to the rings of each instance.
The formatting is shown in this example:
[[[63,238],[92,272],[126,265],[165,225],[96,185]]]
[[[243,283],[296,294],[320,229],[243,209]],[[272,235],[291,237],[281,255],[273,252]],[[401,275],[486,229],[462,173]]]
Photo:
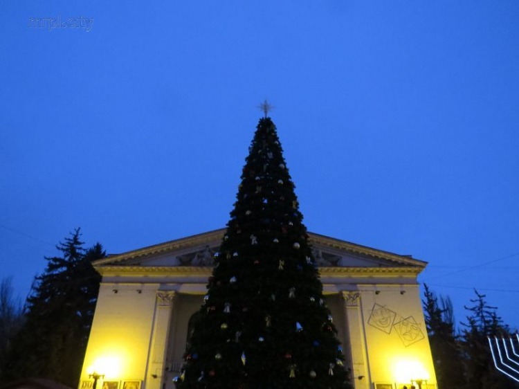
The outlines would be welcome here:
[[[46,257],[28,297],[26,318],[8,354],[3,380],[39,377],[78,386],[98,296],[100,275],[91,262],[105,256],[100,244],[85,250],[80,230]]]

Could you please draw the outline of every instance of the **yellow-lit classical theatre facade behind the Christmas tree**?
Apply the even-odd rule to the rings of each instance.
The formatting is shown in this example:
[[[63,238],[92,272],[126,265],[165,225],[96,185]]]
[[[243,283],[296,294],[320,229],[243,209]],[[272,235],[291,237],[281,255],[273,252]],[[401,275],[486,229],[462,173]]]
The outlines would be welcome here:
[[[111,255],[80,389],[173,389],[225,230]],[[417,275],[426,262],[309,233],[355,389],[437,388]]]

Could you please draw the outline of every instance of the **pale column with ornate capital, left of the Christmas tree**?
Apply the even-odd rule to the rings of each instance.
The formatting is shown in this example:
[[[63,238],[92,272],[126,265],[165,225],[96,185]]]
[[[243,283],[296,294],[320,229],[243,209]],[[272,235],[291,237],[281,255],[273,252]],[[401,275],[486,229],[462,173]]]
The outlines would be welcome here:
[[[175,291],[157,291],[152,340],[148,354],[145,389],[161,389],[167,338],[170,335],[172,306]]]

